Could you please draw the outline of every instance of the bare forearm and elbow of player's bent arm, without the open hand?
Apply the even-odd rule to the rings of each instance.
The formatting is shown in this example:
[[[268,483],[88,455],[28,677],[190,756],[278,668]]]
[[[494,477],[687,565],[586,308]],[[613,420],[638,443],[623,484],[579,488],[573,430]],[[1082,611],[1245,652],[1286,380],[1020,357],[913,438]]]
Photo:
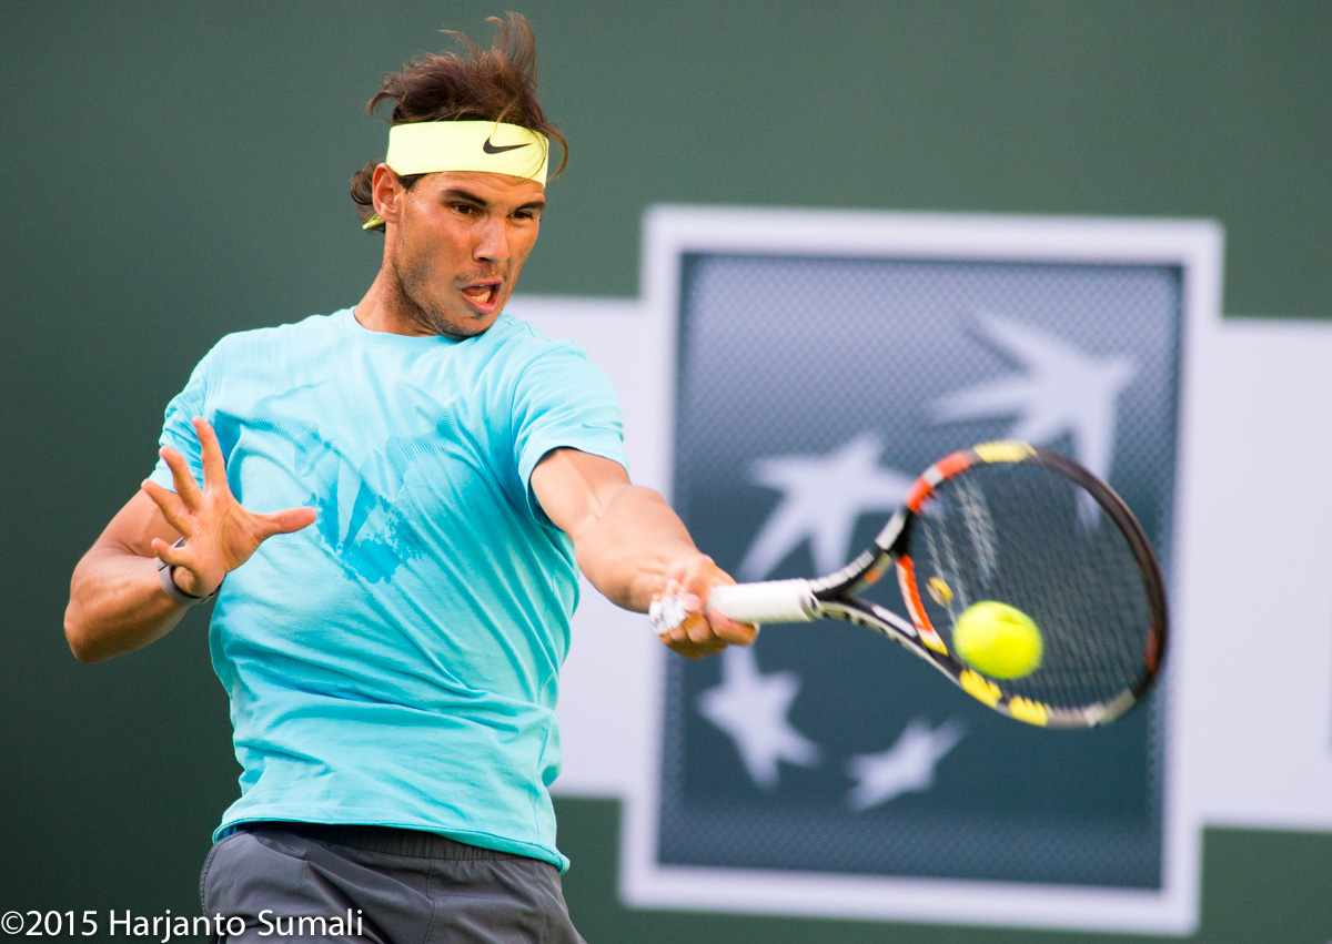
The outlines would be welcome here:
[[[69,582],[65,639],[80,662],[132,652],[170,632],[185,606],[161,587],[153,539],[180,538],[140,491],[111,519]]]

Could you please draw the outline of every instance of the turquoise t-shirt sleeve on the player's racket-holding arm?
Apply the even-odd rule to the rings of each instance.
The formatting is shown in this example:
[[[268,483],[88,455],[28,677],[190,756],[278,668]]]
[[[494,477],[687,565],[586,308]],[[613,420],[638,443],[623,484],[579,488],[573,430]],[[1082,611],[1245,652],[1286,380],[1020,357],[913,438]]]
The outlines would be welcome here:
[[[571,447],[622,465],[625,422],[610,378],[587,353],[565,341],[534,358],[519,374],[513,405],[514,461],[534,514],[531,470],[553,449]]]

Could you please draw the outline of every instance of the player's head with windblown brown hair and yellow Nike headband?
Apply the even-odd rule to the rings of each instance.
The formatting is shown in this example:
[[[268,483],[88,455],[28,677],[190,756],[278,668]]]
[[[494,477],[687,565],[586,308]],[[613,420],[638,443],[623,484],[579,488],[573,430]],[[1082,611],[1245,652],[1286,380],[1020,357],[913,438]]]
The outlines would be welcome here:
[[[380,281],[420,333],[470,337],[498,317],[535,242],[549,141],[563,136],[535,99],[535,44],[517,13],[490,49],[425,56],[388,76],[389,156],[352,178],[366,229],[385,233]]]

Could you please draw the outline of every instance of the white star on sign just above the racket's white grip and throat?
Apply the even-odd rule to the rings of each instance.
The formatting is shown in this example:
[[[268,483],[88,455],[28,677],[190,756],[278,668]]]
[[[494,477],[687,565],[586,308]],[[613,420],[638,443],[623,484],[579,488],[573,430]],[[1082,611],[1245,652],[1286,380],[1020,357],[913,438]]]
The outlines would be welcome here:
[[[864,431],[826,455],[755,461],[753,481],[778,489],[783,497],[737,569],[739,578],[762,581],[806,538],[819,574],[846,563],[856,518],[867,511],[895,510],[912,481],[880,469],[882,451],[878,434]]]

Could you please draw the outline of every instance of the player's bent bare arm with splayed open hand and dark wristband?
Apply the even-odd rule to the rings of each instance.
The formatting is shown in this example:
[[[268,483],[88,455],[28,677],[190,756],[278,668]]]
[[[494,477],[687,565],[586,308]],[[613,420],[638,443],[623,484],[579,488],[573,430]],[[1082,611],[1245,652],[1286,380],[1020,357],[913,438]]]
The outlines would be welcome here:
[[[75,567],[65,610],[65,639],[80,662],[100,662],[166,635],[185,612],[163,590],[157,558],[172,565],[177,589],[208,596],[274,534],[314,521],[314,509],[256,514],[226,483],[213,427],[194,418],[204,462],[200,489],[184,457],[163,449],[176,491],[145,481]],[[182,547],[172,542],[185,538]]]

